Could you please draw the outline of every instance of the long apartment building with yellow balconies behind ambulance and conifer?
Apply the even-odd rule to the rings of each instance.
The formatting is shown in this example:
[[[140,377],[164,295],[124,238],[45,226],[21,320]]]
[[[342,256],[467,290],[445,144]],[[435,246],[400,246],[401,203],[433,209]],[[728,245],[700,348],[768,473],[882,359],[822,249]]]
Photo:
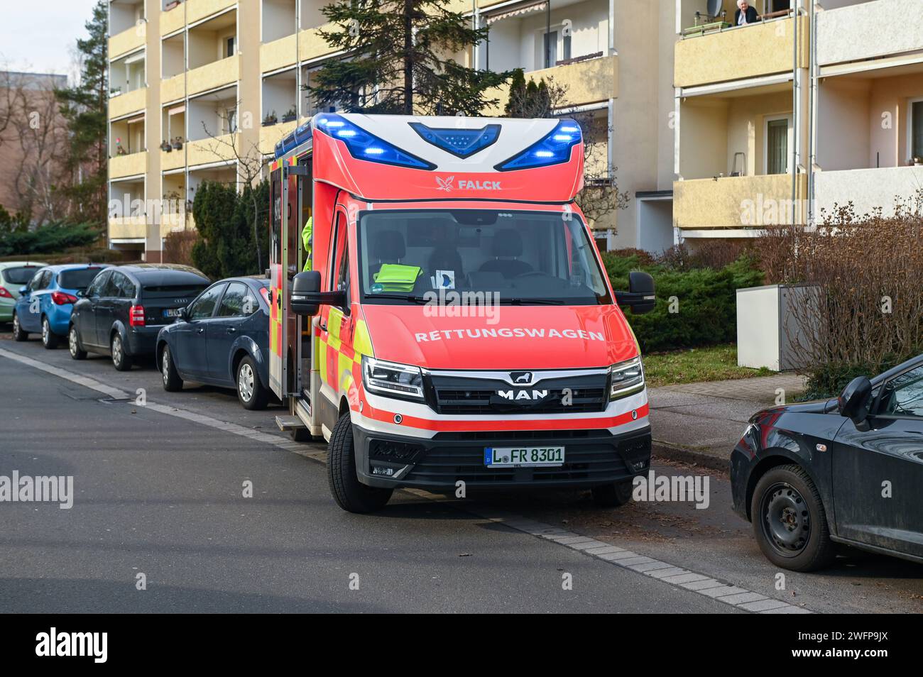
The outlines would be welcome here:
[[[239,182],[241,160],[268,155],[318,112],[302,86],[334,56],[318,35],[327,1],[110,0],[112,247],[161,260],[163,238],[194,227],[186,203],[202,181]],[[593,223],[598,241],[673,243],[671,0],[456,7],[490,29],[489,41],[460,55],[466,63],[552,77],[568,92],[559,113],[605,122],[597,148],[629,207]]]

